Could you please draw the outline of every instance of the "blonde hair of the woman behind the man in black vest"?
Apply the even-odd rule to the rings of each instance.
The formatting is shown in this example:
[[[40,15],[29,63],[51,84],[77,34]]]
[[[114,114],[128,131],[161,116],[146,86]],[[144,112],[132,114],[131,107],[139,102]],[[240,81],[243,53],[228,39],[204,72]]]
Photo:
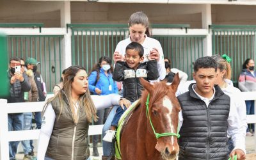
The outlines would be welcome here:
[[[222,70],[226,70],[226,73],[223,76],[223,78],[231,79],[232,71],[231,71],[230,63],[228,63],[227,60],[225,60],[224,58],[222,58],[220,55],[217,55],[217,54],[212,56],[212,58],[216,61],[217,67],[220,69],[221,72]]]

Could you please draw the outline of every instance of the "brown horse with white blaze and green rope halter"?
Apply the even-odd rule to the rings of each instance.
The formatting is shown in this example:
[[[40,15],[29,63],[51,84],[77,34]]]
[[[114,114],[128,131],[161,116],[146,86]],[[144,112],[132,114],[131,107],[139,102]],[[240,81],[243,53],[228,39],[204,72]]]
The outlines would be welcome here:
[[[145,90],[140,106],[134,110],[122,131],[122,159],[175,159],[179,154],[177,127],[180,104],[175,97],[179,75],[175,75],[169,86],[166,81],[154,85],[142,78],[140,81]]]

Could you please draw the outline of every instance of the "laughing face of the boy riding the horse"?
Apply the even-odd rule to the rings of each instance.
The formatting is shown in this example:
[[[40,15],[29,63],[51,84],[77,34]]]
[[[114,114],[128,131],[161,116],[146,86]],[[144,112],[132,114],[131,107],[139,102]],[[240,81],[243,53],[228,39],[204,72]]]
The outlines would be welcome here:
[[[143,60],[143,56],[140,58],[138,51],[134,51],[134,49],[127,49],[125,53],[125,61],[130,68],[138,68],[140,62]]]

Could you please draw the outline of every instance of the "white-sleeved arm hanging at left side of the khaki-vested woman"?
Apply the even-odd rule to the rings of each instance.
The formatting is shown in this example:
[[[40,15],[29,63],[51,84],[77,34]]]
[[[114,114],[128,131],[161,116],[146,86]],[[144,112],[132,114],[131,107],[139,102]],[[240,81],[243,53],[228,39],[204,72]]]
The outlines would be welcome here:
[[[41,126],[41,131],[38,139],[38,149],[37,149],[38,160],[44,160],[45,153],[51,138],[55,117],[56,117],[56,114],[52,109],[52,105],[50,103],[45,109],[45,113],[42,118],[42,126]]]

